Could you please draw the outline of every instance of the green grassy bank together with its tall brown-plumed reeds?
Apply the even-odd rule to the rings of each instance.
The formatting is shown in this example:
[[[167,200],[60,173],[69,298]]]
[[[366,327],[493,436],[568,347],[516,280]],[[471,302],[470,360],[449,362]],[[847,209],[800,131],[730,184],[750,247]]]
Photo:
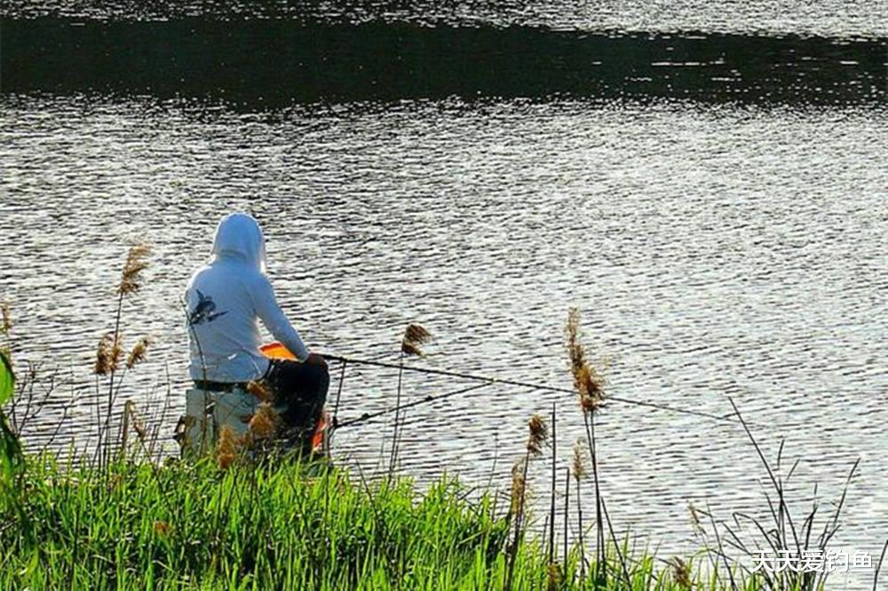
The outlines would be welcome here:
[[[599,481],[599,456],[609,442],[595,430],[609,397],[581,342],[578,311],[570,312],[566,329],[576,411],[571,418],[559,417],[553,407],[551,417],[529,418],[526,444],[511,469],[511,493],[504,499],[448,479],[420,492],[408,479],[395,477],[393,468],[368,476],[360,467],[349,472],[326,460],[277,452],[267,445],[274,431],[267,409],[254,415],[249,437],[235,439],[221,429],[215,448],[202,459],[163,457],[155,453],[158,430],[148,429],[131,403],[119,398],[123,375],[147,351],[147,341],[139,339],[126,356],[120,329],[123,302],[138,291],[146,256],[144,248],[131,252],[117,288],[114,331],[99,343],[94,374],[107,382],[96,382],[106,408],[97,418],[95,450],[70,453],[64,460],[22,452],[23,415],[33,415],[40,403],[28,399],[26,411],[14,409],[33,396],[36,377],[26,371],[15,384],[10,350],[0,351],[0,588],[828,588],[824,571],[749,568],[759,548],[771,556],[826,553],[839,527],[844,494],[824,517],[816,500],[809,512],[795,515],[797,503],[785,497],[795,466],[781,469],[782,446],[772,465],[736,406],[726,420],[742,426],[762,462],[771,486],[762,513],[769,517],[733,514],[732,522],[692,508],[701,550],[686,559],[639,552],[615,533]],[[4,309],[4,335],[11,326]],[[416,327],[408,330],[415,333]],[[3,412],[11,404],[12,421]],[[112,421],[117,406],[123,408],[116,415],[120,424]],[[559,479],[555,429],[566,420],[582,421],[585,437],[571,450],[571,466]],[[395,425],[392,445],[397,420]],[[528,467],[543,461],[551,461],[551,489],[543,494],[549,502],[530,503],[534,484]],[[559,481],[566,485],[563,515],[555,510]],[[539,499],[538,488],[536,493]],[[575,508],[570,544],[568,504]],[[535,516],[532,505],[548,505],[548,511]],[[741,527],[741,520],[748,527]],[[542,528],[532,527],[541,522]],[[761,535],[750,539],[744,530]]]

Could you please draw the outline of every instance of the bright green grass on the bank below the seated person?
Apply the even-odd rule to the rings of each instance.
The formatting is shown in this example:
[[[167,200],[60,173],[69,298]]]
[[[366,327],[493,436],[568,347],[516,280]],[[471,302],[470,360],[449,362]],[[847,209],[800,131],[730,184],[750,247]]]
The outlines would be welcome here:
[[[98,470],[31,458],[0,513],[0,588],[503,587],[509,524],[489,496],[465,500],[453,481],[419,495],[408,482],[311,471],[289,461]],[[593,588],[588,571],[579,584],[576,554],[551,570],[537,544],[522,542],[513,588]],[[610,564],[595,588],[686,588],[649,557],[632,561],[631,586],[620,569]]]

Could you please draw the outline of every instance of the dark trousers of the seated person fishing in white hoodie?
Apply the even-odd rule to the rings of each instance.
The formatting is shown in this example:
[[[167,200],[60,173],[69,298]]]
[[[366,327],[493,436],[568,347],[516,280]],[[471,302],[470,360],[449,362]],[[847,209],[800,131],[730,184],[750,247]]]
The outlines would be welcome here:
[[[266,381],[274,392],[274,406],[281,414],[284,444],[310,452],[314,428],[327,402],[327,367],[274,359]]]

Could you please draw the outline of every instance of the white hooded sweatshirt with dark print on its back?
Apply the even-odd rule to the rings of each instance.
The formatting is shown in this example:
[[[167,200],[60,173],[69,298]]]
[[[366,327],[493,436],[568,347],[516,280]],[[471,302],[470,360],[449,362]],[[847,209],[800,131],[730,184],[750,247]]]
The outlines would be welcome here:
[[[298,359],[308,350],[284,316],[266,277],[266,240],[255,219],[235,213],[219,222],[212,260],[188,282],[192,379],[249,382],[266,373],[258,320]]]

